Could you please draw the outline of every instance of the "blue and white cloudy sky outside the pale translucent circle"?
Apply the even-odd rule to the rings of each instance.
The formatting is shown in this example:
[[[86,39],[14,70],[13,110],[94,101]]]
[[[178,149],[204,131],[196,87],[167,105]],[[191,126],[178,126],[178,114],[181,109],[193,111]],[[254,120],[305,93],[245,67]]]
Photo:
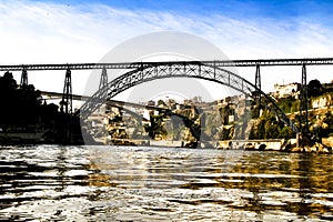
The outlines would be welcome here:
[[[333,1],[0,0],[1,64],[98,62],[122,42],[180,31],[216,46],[229,59],[333,58]],[[195,47],[195,46],[193,46]],[[255,69],[238,72],[254,81]],[[52,74],[49,74],[52,73]],[[263,68],[262,85],[300,82],[301,68]],[[309,67],[307,80],[333,79]],[[19,80],[20,73],[14,73]],[[73,92],[89,73],[72,74]],[[29,72],[29,83],[61,92],[64,72]]]

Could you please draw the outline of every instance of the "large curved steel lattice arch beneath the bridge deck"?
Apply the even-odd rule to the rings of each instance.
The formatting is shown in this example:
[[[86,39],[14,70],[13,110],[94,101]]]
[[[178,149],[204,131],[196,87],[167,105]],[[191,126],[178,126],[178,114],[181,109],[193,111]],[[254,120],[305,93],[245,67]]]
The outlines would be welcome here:
[[[260,93],[261,103],[273,111],[274,114],[294,132],[299,132],[299,129],[278,107],[273,99],[258,89],[254,84],[229,70],[199,61],[142,63],[141,67],[113,79],[107,85],[98,90],[90,99],[85,101],[85,103],[80,110],[77,111],[75,114],[80,115],[82,120],[85,120],[105,101],[111,100],[111,98],[125,91],[127,89],[143,82],[165,78],[203,79],[228,85],[251,98],[255,98],[254,95]]]

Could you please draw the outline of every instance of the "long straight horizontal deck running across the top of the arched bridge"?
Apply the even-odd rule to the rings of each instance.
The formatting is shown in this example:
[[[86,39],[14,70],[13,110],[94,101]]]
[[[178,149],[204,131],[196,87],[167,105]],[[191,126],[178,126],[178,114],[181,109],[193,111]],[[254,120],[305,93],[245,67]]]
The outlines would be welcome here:
[[[211,60],[211,61],[165,61],[165,62],[119,62],[119,63],[62,63],[62,64],[8,64],[0,65],[0,71],[22,70],[93,70],[93,69],[139,69],[147,65],[162,64],[203,64],[211,67],[273,67],[273,65],[319,65],[333,64],[333,58],[304,59],[259,59],[259,60]]]

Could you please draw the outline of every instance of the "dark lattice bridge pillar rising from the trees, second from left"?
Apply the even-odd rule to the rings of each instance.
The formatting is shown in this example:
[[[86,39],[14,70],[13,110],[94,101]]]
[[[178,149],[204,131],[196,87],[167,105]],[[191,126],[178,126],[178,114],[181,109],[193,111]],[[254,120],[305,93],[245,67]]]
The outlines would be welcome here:
[[[64,77],[64,85],[63,85],[63,93],[62,93],[62,100],[60,102],[60,110],[64,113],[72,113],[72,77],[71,77],[71,70],[68,68],[65,71]],[[63,110],[64,108],[64,110]]]

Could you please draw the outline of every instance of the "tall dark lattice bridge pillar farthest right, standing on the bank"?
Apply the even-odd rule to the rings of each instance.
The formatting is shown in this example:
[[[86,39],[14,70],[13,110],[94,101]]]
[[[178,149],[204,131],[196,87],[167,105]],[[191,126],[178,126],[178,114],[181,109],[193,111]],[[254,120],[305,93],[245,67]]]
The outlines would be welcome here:
[[[307,85],[306,85],[306,67],[302,65],[302,83],[300,94],[300,129],[301,132],[306,134],[309,132],[309,100],[307,100]]]

